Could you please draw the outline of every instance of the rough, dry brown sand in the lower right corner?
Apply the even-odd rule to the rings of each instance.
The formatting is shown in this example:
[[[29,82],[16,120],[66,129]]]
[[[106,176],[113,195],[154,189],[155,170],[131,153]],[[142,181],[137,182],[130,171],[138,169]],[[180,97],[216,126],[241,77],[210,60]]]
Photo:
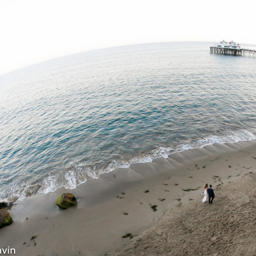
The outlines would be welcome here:
[[[213,204],[199,200],[167,211],[125,249],[108,255],[256,255],[256,175],[216,192]]]

